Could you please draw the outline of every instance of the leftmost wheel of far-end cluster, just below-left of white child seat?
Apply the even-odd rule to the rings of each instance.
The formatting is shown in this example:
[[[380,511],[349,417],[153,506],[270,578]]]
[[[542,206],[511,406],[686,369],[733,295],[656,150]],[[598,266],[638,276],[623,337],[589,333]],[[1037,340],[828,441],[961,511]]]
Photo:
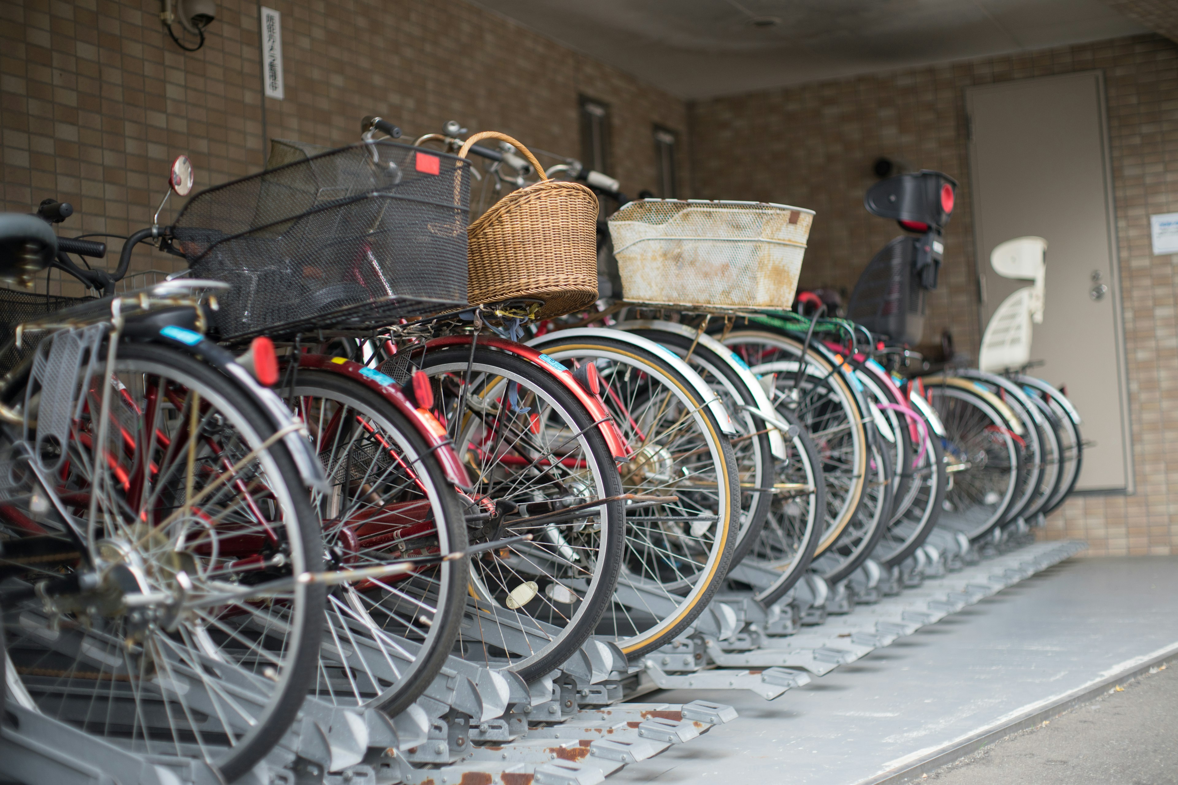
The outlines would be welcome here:
[[[946,472],[940,525],[979,540],[1006,520],[1023,477],[1023,454],[1008,423],[977,391],[925,380],[925,395],[945,427]]]

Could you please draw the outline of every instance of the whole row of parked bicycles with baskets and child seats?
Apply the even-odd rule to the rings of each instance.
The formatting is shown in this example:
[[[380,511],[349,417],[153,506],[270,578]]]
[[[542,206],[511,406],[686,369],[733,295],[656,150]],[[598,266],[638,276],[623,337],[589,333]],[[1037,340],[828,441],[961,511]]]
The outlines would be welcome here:
[[[789,310],[810,211],[629,201],[461,132],[276,142],[112,274],[52,231],[68,205],[0,217],[0,277],[101,294],[0,295],[4,723],[232,781],[302,759],[296,717],[345,726],[329,746],[358,712],[454,727],[431,690],[456,667],[527,690],[589,641],[671,645],[720,591],[768,607],[869,560],[919,580],[934,531],[1000,550],[1074,485],[1059,391],[927,374],[904,345],[949,178],[868,193],[913,234],[851,321]],[[499,197],[474,221],[472,179]],[[623,202],[608,222],[598,197]],[[140,242],[188,274],[118,291]]]

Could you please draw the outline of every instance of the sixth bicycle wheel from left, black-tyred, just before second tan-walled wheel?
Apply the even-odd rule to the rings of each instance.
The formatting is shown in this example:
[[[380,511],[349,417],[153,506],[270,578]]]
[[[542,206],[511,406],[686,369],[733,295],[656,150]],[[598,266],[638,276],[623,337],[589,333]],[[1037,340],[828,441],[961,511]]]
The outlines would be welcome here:
[[[796,428],[786,439],[788,458],[777,464],[769,514],[746,557],[781,574],[754,594],[754,599],[765,606],[785,597],[806,574],[822,534],[826,511],[822,459],[814,440],[793,412],[779,411],[777,415]],[[729,583],[736,588],[748,588],[732,579]]]

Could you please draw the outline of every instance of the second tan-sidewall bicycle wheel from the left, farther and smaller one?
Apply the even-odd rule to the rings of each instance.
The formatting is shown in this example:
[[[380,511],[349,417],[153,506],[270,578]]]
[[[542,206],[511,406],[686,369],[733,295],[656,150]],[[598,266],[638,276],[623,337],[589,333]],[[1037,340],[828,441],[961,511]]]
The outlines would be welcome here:
[[[766,331],[735,331],[724,339],[757,375],[772,374],[774,407],[798,415],[822,458],[826,525],[816,554],[839,539],[863,501],[867,485],[869,415],[839,366],[818,351],[806,353],[794,338]],[[799,373],[799,371],[801,372]]]

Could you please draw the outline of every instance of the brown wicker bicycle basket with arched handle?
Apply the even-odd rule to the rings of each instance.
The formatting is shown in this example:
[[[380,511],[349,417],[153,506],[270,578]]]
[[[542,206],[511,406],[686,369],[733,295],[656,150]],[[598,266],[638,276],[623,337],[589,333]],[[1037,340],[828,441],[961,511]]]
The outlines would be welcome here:
[[[518,148],[541,178],[544,168],[527,147],[494,131],[479,139]],[[580,311],[597,299],[597,197],[580,182],[541,182],[512,191],[478,217],[469,231],[470,301],[543,302],[536,318]]]

